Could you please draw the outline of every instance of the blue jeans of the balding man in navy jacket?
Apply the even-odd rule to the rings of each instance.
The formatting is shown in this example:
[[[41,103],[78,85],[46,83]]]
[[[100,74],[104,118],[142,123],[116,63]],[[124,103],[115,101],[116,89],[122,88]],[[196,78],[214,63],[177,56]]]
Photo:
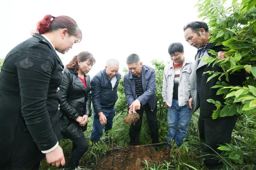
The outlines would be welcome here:
[[[93,109],[93,129],[92,129],[92,134],[91,134],[91,140],[98,141],[100,137],[103,135],[103,128],[105,132],[110,130],[112,128],[113,124],[113,118],[116,114],[115,108],[112,109],[102,109],[102,113],[106,116],[107,118],[107,123],[106,125],[101,125],[100,124],[100,117],[98,113],[95,113]]]

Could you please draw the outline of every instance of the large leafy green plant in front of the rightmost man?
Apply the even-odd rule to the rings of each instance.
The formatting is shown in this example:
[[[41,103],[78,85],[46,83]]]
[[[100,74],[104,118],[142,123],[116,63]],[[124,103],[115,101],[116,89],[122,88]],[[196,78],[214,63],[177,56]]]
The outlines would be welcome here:
[[[224,59],[202,57],[210,65],[219,65],[223,72],[207,71],[208,81],[218,76],[218,82],[212,88],[219,88],[216,95],[224,95],[225,102],[208,100],[217,109],[212,118],[232,115],[250,115],[256,108],[256,1],[233,0],[231,6],[225,6],[226,0],[199,0],[196,6],[199,17],[208,20],[212,29],[210,42],[224,45],[226,48]],[[209,51],[217,55],[214,51]],[[244,75],[246,80],[243,87],[233,86],[222,82],[222,77],[229,81],[230,76]],[[252,112],[253,111],[253,112]]]

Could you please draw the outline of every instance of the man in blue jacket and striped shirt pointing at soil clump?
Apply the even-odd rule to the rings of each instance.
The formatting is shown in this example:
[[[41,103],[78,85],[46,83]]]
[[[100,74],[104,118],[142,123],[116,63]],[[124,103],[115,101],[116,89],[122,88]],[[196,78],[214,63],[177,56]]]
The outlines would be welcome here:
[[[138,113],[140,119],[130,126],[130,145],[138,145],[143,112],[146,112],[152,143],[158,143],[158,125],[156,119],[156,73],[153,68],[142,65],[137,54],[126,59],[129,72],[124,76],[124,92],[129,106],[128,114]]]

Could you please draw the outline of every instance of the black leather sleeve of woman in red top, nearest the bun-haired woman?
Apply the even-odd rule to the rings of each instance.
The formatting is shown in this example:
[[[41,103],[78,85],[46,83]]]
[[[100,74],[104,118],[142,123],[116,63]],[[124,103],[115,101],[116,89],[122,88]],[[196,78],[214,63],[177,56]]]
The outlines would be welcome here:
[[[69,73],[67,69],[64,69],[62,83],[60,85],[60,91],[61,91],[60,111],[70,119],[76,120],[76,118],[78,118],[79,116],[79,113],[67,101],[70,83],[71,83],[71,73]]]

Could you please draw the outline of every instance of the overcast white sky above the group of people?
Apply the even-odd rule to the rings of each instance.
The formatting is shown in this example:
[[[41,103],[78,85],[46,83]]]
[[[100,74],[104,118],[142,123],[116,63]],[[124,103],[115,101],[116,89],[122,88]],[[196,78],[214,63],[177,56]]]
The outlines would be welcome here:
[[[143,64],[152,59],[170,60],[168,46],[184,45],[184,56],[194,60],[196,49],[183,35],[188,22],[200,20],[194,5],[197,0],[0,0],[0,58],[18,43],[30,38],[36,23],[46,14],[66,15],[76,20],[83,39],[66,54],[59,56],[64,65],[81,51],[96,58],[91,77],[104,69],[107,59],[126,67],[131,53],[140,56]]]

